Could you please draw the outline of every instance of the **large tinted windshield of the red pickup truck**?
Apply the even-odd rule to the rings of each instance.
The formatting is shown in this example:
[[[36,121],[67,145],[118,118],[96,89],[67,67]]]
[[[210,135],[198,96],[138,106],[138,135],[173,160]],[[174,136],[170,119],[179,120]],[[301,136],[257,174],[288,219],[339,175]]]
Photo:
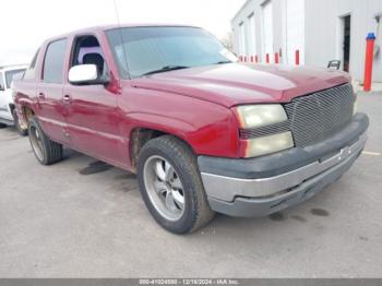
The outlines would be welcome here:
[[[195,27],[127,27],[106,32],[122,78],[237,61],[215,37]]]

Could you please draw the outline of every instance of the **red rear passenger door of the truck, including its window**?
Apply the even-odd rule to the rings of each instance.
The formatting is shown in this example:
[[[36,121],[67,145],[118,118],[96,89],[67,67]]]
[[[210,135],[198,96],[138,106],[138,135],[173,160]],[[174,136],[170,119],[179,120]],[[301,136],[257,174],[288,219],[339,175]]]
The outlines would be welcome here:
[[[37,82],[36,115],[43,130],[55,141],[69,142],[64,118],[62,93],[68,39],[48,44],[45,50],[43,70]]]

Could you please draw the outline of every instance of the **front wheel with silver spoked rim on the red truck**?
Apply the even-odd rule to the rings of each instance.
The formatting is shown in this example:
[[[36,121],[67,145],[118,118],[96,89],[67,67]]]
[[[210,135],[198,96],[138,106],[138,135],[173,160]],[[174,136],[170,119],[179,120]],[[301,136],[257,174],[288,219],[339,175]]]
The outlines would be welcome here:
[[[148,141],[139,156],[138,179],[150,213],[165,229],[192,233],[214,217],[196,158],[182,141],[170,135]]]

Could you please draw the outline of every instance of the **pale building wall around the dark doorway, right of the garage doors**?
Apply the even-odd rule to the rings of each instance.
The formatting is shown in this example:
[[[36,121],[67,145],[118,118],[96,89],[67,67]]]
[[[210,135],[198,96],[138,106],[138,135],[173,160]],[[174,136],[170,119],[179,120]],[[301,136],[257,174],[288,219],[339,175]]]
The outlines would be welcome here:
[[[350,69],[357,81],[363,80],[366,37],[377,32],[374,15],[382,13],[381,0],[306,0],[306,62],[325,67],[330,60],[343,61],[342,16],[351,16]],[[382,17],[381,24],[382,25]],[[377,45],[382,44],[382,27]],[[374,59],[373,81],[382,82],[381,53]]]

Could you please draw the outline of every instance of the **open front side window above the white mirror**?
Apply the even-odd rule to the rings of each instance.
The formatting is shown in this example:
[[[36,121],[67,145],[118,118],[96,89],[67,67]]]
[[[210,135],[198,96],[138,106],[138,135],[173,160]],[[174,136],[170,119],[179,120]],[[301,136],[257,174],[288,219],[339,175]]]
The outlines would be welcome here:
[[[70,62],[71,68],[80,64],[95,64],[100,76],[108,76],[109,73],[104,52],[95,36],[81,36],[74,40]]]

